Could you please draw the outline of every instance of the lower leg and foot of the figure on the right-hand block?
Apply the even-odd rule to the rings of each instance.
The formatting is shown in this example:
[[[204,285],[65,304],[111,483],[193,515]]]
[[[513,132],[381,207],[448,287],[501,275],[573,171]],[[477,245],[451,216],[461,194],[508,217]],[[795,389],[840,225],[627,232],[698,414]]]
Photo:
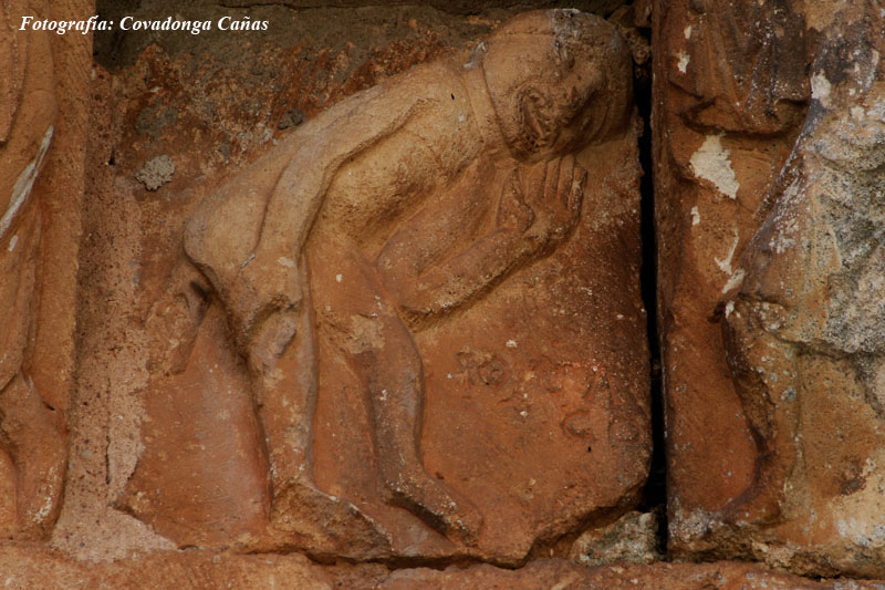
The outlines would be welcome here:
[[[722,511],[728,520],[764,524],[783,516],[784,484],[801,458],[800,392],[792,348],[767,332],[752,308],[738,301],[723,337],[757,459],[752,484]]]

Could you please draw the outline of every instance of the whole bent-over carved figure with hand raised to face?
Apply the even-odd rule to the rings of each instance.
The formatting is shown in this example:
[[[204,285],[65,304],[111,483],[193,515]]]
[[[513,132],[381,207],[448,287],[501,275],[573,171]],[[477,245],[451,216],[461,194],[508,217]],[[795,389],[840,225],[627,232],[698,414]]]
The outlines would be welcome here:
[[[386,501],[476,541],[480,511],[423,464],[415,334],[568,240],[589,182],[580,154],[631,128],[629,68],[601,19],[528,13],[467,63],[415,68],[322,113],[201,204],[148,320],[191,335],[155,355],[180,370],[222,302],[267,443],[272,528],[303,532],[292,515],[335,506],[372,528],[313,480],[322,325],[364,387]]]

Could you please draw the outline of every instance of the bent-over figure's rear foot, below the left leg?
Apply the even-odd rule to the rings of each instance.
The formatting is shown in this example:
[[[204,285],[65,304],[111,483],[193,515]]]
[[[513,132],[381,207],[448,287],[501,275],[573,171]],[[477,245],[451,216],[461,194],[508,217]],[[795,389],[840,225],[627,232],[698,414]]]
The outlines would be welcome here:
[[[274,493],[271,536],[278,545],[321,555],[376,558],[389,553],[389,535],[352,503],[292,480]]]

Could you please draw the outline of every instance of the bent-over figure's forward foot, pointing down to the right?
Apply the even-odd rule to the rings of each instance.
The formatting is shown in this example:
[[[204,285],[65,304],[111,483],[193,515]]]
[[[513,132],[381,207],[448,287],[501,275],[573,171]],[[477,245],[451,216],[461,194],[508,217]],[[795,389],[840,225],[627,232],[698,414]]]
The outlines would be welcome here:
[[[423,468],[383,478],[391,504],[402,506],[452,540],[473,546],[482,528],[479,510]]]

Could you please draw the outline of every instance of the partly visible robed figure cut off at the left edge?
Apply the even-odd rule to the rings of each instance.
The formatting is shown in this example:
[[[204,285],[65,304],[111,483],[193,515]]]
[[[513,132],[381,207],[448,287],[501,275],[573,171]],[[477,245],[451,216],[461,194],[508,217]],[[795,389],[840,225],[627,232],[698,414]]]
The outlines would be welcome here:
[[[32,6],[33,4],[33,6]],[[0,531],[41,537],[64,479],[64,424],[31,375],[41,280],[41,195],[34,184],[52,144],[58,103],[45,34],[12,33],[39,2],[0,8]]]

